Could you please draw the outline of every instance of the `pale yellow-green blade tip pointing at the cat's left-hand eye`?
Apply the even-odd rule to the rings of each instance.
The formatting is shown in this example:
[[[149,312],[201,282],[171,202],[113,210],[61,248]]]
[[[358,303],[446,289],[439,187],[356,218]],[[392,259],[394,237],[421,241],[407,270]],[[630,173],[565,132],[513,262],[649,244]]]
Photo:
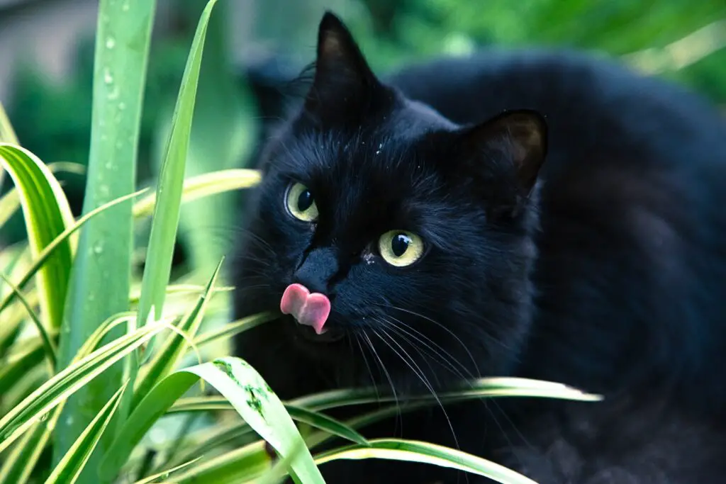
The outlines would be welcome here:
[[[261,180],[259,171],[245,168],[212,171],[184,180],[181,203],[193,202],[211,195],[232,192],[255,186]],[[134,204],[134,217],[150,216],[155,209],[156,194],[152,193]],[[1,212],[0,212],[1,215]]]

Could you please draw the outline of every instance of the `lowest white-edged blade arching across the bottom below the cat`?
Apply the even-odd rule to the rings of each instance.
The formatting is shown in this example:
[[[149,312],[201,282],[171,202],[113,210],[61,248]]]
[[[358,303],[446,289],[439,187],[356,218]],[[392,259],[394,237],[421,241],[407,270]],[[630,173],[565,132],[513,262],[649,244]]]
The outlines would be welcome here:
[[[451,467],[472,474],[489,477],[502,484],[537,484],[518,472],[507,469],[481,457],[432,443],[401,439],[369,440],[369,446],[348,446],[319,454],[317,464],[337,459],[391,459],[406,462],[423,462],[441,467]]]

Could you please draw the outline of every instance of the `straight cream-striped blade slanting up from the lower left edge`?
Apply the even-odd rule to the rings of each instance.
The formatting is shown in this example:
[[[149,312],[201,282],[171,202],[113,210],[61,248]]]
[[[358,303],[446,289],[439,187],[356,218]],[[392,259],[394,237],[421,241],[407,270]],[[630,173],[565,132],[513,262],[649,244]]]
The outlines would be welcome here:
[[[166,327],[168,327],[167,324],[157,323],[139,328],[129,335],[107,343],[58,372],[0,419],[0,452],[20,435],[23,435],[23,432],[38,419],[76,393],[79,388],[87,385],[99,374],[105,372],[109,366],[147,343]]]

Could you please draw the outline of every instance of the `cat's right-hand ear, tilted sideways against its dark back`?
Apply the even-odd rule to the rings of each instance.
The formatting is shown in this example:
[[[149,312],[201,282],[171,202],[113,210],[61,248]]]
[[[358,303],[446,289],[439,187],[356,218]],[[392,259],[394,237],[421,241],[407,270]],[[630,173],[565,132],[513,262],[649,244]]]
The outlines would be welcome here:
[[[536,111],[507,111],[466,129],[460,141],[469,169],[514,181],[527,197],[547,155],[547,122]]]

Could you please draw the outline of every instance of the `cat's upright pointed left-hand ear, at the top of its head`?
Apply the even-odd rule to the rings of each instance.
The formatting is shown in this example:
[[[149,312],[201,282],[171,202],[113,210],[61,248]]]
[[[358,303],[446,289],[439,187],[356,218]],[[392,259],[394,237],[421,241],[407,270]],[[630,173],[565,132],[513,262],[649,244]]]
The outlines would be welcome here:
[[[332,12],[325,12],[318,29],[315,75],[306,108],[350,109],[351,104],[364,102],[378,86],[346,25]]]

